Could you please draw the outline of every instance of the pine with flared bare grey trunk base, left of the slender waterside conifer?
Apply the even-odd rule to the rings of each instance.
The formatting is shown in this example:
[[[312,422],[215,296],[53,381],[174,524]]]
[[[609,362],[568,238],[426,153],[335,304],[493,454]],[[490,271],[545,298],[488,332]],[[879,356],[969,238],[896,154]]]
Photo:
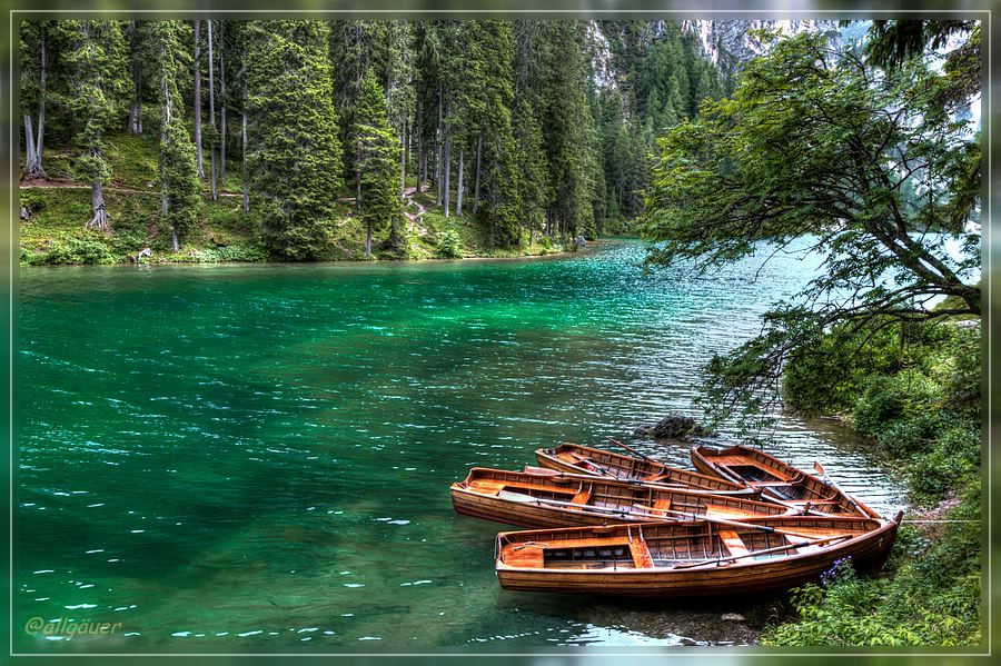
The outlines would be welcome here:
[[[91,186],[91,218],[88,229],[107,231],[110,216],[102,186],[111,177],[105,159],[105,135],[118,118],[128,90],[126,43],[119,21],[60,21],[72,43],[67,60],[75,70],[73,95],[69,102],[82,126],[77,132],[80,155],[76,170]]]

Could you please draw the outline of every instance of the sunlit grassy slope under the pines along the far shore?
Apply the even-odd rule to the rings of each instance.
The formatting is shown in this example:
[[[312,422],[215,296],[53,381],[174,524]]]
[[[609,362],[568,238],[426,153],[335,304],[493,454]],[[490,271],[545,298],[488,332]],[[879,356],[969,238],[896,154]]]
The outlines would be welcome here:
[[[160,223],[160,189],[157,143],[151,138],[116,135],[109,138],[107,157],[112,179],[105,187],[111,231],[83,228],[90,219],[90,187],[73,179],[73,152],[68,148],[46,150],[48,181],[23,183],[20,206],[30,215],[20,222],[22,265],[123,264],[149,248],[150,262],[267,261],[268,252],[258,232],[254,212],[241,208],[240,165],[230,160],[219,183],[218,200],[202,181],[202,208],[198,228],[180,251],[171,247],[170,230]],[[410,182],[410,186],[416,182]],[[350,192],[341,192],[344,198]],[[453,207],[454,208],[454,207]],[[490,229],[473,215],[445,216],[435,206],[435,192],[415,193],[407,201],[407,247],[389,254],[375,239],[376,259],[438,259],[462,257],[518,257],[566,251],[571,248],[543,237],[521,247],[496,247]],[[350,201],[339,201],[334,219],[325,228],[324,260],[365,259],[365,228],[354,217]]]

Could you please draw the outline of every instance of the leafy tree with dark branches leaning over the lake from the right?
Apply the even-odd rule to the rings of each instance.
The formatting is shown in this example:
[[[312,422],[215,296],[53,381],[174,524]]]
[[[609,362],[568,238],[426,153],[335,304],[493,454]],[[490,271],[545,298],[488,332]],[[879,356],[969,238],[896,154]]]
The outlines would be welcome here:
[[[805,368],[793,375],[792,395],[819,408],[824,398],[819,390],[810,395],[806,377],[825,355],[849,354],[855,334],[879,342],[893,320],[980,314],[980,289],[969,284],[979,256],[957,260],[942,233],[924,233],[979,239],[965,227],[975,197],[962,211],[943,206],[969,186],[960,162],[979,153],[979,141],[962,123],[932,112],[930,90],[940,78],[923,61],[879,72],[833,51],[822,36],[800,34],[750,62],[732,99],[704,102],[697,120],[658,141],[641,225],[651,264],[706,271],[765,243],[780,251],[804,236],[811,251],[825,257],[821,275],[795,302],[779,304],[757,338],[714,359],[711,408],[743,409],[745,423],[760,426],[757,408],[776,400],[791,359]],[[899,111],[888,117],[888,108]],[[914,159],[928,168],[909,168]],[[906,201],[891,187],[903,182],[933,196]],[[940,294],[959,297],[960,309],[916,305]],[[843,339],[817,349],[820,331],[839,326],[848,331]],[[805,360],[811,355],[815,362]],[[836,364],[830,367],[838,371]],[[835,379],[821,384],[844,407],[860,377]],[[875,404],[878,391],[871,398],[873,409],[892,407]]]

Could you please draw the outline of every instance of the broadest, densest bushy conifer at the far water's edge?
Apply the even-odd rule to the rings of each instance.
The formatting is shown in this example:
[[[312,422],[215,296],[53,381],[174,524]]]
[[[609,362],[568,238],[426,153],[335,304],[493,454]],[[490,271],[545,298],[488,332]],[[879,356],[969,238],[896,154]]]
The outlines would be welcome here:
[[[247,168],[270,250],[317,259],[340,185],[329,28],[323,21],[247,26]]]

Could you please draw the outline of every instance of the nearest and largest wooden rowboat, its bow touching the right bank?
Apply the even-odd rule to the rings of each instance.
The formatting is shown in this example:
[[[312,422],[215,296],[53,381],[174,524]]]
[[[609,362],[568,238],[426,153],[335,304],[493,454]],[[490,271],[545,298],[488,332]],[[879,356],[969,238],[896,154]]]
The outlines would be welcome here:
[[[851,558],[883,566],[902,514],[780,516],[721,527],[705,520],[497,535],[500,586],[524,592],[703,597],[784,590]]]

